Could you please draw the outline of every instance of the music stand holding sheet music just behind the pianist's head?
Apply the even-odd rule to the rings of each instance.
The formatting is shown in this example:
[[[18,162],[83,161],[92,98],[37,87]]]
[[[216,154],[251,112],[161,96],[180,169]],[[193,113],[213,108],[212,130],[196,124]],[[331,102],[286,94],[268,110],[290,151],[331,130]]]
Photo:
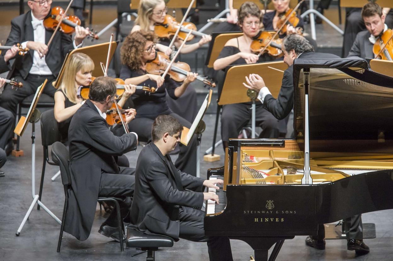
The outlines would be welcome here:
[[[196,140],[198,141],[196,145],[196,177],[200,177],[200,141],[202,138],[202,133],[206,129],[206,124],[202,119],[206,113],[206,110],[208,110],[212,93],[213,90],[210,89],[208,95],[206,95],[206,98],[202,103],[202,106],[200,106],[193,124],[191,124],[190,128],[183,127],[182,136],[180,137],[180,142],[187,146],[193,135],[196,134]]]

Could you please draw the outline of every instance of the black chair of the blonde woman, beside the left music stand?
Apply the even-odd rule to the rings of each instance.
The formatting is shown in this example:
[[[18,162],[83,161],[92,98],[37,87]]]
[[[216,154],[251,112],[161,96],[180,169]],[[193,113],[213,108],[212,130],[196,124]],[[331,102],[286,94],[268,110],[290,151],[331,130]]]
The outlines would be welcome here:
[[[57,121],[55,120],[55,114],[53,112],[53,109],[44,111],[41,114],[40,121],[41,121],[41,142],[42,142],[42,147],[44,149],[44,161],[42,162],[40,192],[39,192],[39,199],[38,199],[39,201],[41,201],[42,198],[42,188],[44,186],[46,163],[50,165],[59,166],[59,161],[57,161],[56,157],[52,157],[52,160],[49,159],[48,147],[51,146],[56,141],[60,141],[59,128],[57,127]],[[40,205],[37,204],[37,210],[39,209],[40,209]]]

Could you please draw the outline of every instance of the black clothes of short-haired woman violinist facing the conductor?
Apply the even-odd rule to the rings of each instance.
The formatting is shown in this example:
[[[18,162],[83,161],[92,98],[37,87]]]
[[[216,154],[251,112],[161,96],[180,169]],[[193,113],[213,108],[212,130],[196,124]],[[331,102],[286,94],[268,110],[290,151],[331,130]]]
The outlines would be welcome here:
[[[239,42],[238,42],[239,46]],[[228,57],[239,53],[240,50],[235,46],[225,46],[222,48],[219,58]],[[273,59],[268,55],[264,55],[259,57],[258,62],[266,61],[266,59]],[[237,64],[246,64],[246,61],[243,58],[237,59],[231,65]],[[260,73],[262,75],[262,73]],[[246,76],[246,75],[244,75]],[[243,75],[239,77],[244,77]],[[239,88],[243,88],[246,91],[244,86],[239,86]],[[226,104],[222,106],[222,114],[221,114],[221,139],[223,141],[224,147],[227,146],[229,139],[237,138],[239,132],[242,128],[251,120],[250,110],[251,102],[243,102],[243,103],[235,103],[235,104]],[[262,132],[259,137],[261,138],[278,138],[279,135],[279,123],[278,120],[268,111],[263,108],[263,105],[260,102],[256,103],[256,111],[255,111],[255,123],[257,126],[262,128]]]

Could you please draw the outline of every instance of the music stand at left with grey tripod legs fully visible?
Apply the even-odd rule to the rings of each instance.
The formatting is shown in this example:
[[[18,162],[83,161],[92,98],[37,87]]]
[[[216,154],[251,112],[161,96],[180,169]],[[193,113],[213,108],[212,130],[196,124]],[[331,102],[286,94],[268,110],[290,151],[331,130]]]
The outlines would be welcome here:
[[[33,102],[31,102],[31,106],[29,108],[29,111],[28,111],[26,117],[24,117],[24,116],[20,117],[19,122],[14,130],[14,132],[18,136],[22,136],[24,131],[26,130],[27,124],[29,122],[32,124],[32,129],[31,129],[31,195],[33,196],[33,201],[31,202],[30,207],[22,220],[22,223],[20,223],[20,226],[19,226],[17,232],[15,233],[17,236],[20,235],[20,231],[22,230],[24,224],[26,223],[27,219],[29,218],[29,215],[31,214],[31,211],[33,210],[33,207],[36,203],[39,204],[51,217],[53,217],[53,219],[55,219],[57,221],[57,223],[61,224],[60,219],[58,219],[55,216],[55,214],[53,214],[44,204],[42,204],[41,201],[38,200],[39,195],[35,194],[35,122],[38,122],[40,119],[40,111],[37,110],[35,107],[37,106],[37,102],[40,99],[41,93],[42,93],[43,89],[45,88],[47,81],[48,80],[46,79],[44,81],[44,83],[42,83],[37,88]]]

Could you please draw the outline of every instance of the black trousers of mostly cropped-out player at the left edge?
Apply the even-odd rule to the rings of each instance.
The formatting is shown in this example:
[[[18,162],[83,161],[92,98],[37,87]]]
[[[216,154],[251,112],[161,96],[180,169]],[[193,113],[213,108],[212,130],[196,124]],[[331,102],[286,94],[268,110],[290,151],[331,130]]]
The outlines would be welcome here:
[[[7,161],[7,155],[4,151],[8,138],[13,131],[12,126],[15,124],[15,117],[11,111],[0,107],[0,168]]]

